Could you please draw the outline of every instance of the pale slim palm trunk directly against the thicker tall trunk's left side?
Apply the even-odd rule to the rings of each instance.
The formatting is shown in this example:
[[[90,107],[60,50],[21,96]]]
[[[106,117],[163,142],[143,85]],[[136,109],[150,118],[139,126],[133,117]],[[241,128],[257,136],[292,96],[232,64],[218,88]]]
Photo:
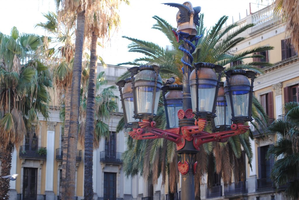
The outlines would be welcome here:
[[[62,179],[65,179],[66,156],[68,153],[68,129],[70,127],[70,112],[71,112],[71,86],[65,88],[65,117],[63,131],[63,146],[62,146]],[[62,187],[64,192],[64,187]]]

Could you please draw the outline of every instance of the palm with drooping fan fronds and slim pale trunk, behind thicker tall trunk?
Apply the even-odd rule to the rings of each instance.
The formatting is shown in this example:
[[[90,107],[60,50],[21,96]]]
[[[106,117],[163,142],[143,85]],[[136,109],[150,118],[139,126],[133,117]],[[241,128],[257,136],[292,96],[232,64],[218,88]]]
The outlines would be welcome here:
[[[67,113],[69,113],[74,63],[74,26],[68,26],[65,21],[59,22],[57,14],[53,12],[44,14],[44,17],[47,21],[36,24],[36,27],[42,27],[50,34],[49,39],[54,47],[46,49],[44,56],[51,64],[51,67],[53,67],[54,86],[59,96],[58,99],[60,99],[60,110],[63,106],[64,112],[67,110]],[[75,20],[74,18],[70,19],[72,22]],[[70,115],[67,114],[63,118],[63,160],[65,161],[68,155]],[[65,172],[64,162],[62,165],[62,177],[65,177]]]

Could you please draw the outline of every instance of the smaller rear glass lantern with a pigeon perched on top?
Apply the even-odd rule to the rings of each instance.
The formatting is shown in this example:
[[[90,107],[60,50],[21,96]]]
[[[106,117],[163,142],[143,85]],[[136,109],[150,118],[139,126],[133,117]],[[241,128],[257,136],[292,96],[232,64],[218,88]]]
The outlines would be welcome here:
[[[178,111],[183,108],[183,86],[177,84],[163,86],[162,95],[167,129],[179,127]]]

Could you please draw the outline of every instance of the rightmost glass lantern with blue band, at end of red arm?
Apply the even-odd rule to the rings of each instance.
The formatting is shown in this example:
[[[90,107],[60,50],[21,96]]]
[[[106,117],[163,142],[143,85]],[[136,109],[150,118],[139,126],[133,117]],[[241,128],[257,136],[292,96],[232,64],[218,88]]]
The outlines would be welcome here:
[[[225,74],[224,91],[228,109],[232,112],[232,121],[251,121],[253,81],[256,73],[250,70],[228,70]]]

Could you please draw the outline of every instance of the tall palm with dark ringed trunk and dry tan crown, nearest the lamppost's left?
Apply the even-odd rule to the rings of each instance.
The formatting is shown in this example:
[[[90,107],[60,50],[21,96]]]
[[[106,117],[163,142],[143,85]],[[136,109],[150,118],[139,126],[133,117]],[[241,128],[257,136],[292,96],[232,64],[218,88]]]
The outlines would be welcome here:
[[[87,25],[86,35],[91,38],[90,47],[90,66],[89,66],[89,83],[86,104],[86,122],[85,122],[85,144],[84,144],[84,199],[93,199],[92,187],[92,165],[94,150],[94,113],[96,101],[95,77],[97,69],[97,38],[109,38],[110,31],[118,27],[120,18],[118,15],[118,6],[122,0],[116,1],[99,1],[91,7],[86,13]],[[127,4],[127,0],[124,0]],[[108,109],[108,108],[107,108]],[[98,146],[98,145],[97,145]]]

